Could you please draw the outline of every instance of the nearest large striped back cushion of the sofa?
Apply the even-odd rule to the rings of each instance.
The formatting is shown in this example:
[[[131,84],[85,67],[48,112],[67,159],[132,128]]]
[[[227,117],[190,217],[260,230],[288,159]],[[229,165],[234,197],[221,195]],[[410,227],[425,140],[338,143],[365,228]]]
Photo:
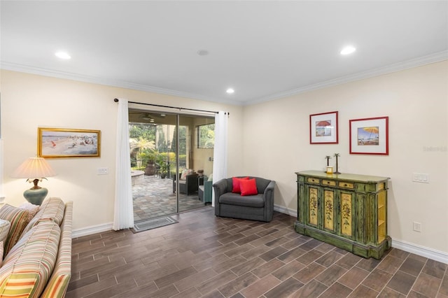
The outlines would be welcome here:
[[[61,229],[39,222],[10,250],[0,269],[0,297],[40,297],[55,267]]]

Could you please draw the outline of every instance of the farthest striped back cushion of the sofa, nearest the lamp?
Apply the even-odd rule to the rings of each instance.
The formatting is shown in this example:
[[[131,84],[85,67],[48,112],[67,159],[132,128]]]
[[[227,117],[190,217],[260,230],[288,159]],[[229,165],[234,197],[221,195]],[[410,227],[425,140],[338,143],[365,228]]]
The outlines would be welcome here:
[[[23,230],[23,234],[27,233],[32,227],[42,220],[53,220],[57,225],[61,225],[64,218],[65,204],[62,199],[51,197],[43,201],[38,213],[29,221],[27,227]],[[23,235],[22,234],[22,235]]]

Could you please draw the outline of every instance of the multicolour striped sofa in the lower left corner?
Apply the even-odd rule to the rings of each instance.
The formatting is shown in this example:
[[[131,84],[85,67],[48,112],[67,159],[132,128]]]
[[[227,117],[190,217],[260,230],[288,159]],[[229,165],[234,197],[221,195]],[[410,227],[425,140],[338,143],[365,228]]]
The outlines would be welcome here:
[[[25,211],[25,213],[23,212]],[[73,202],[43,201],[36,215],[5,204],[0,218],[10,221],[3,245],[0,297],[64,297],[71,277]]]

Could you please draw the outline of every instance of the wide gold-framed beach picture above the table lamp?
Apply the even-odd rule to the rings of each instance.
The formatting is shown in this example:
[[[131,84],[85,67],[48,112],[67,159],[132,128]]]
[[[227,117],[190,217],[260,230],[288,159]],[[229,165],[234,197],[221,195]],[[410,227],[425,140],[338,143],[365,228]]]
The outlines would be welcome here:
[[[99,157],[101,131],[90,129],[37,129],[38,157]]]

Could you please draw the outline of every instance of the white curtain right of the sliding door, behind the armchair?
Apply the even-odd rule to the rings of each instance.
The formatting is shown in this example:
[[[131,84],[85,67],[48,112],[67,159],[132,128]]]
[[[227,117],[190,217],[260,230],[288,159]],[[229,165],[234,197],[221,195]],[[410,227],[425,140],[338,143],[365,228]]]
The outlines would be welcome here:
[[[227,177],[228,155],[228,113],[220,111],[215,115],[215,146],[213,163],[213,180],[218,181]],[[211,206],[215,206],[215,192],[212,193]]]

